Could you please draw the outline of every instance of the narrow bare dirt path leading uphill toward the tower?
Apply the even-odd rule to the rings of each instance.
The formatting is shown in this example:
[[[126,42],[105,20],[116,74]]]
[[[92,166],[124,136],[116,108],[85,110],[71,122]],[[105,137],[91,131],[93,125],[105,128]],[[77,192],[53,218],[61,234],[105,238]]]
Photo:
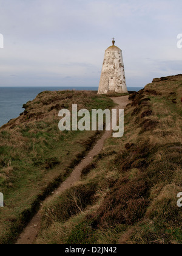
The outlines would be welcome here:
[[[111,98],[118,106],[115,108],[124,109],[126,105],[129,103],[129,96],[122,96],[117,98]],[[104,132],[103,137],[101,137],[94,148],[87,154],[86,158],[84,158],[81,163],[79,163],[78,166],[75,167],[72,174],[67,178],[66,181],[62,182],[61,185],[57,190],[54,191],[53,194],[60,194],[63,191],[67,190],[68,188],[75,185],[75,183],[80,179],[81,177],[81,171],[86,168],[89,163],[93,161],[93,157],[99,154],[104,146],[104,141],[110,137],[112,132],[106,131]],[[52,196],[47,197],[45,201],[48,201]],[[45,202],[44,201],[44,202]],[[21,235],[18,238],[18,241],[16,244],[33,244],[33,241],[35,241],[36,236],[38,235],[38,231],[40,229],[41,224],[41,213],[39,212],[33,217],[32,221],[29,222],[27,227],[25,227],[24,231],[21,233]]]

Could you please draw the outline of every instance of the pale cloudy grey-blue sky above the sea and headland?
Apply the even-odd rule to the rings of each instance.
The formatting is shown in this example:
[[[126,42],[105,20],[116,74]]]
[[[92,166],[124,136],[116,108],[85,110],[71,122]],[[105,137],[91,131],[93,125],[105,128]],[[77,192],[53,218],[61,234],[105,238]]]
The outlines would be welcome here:
[[[181,10],[181,0],[0,0],[0,87],[98,87],[113,37],[128,87],[180,74]]]

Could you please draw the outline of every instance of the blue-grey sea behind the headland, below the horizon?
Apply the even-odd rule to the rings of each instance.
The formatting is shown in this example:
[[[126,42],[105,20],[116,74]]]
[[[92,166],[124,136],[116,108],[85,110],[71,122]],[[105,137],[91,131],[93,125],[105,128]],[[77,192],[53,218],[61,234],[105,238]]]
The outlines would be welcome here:
[[[129,87],[129,91],[139,91],[140,87]],[[0,87],[0,127],[10,119],[24,112],[22,105],[35,99],[41,91],[92,90],[98,87]]]

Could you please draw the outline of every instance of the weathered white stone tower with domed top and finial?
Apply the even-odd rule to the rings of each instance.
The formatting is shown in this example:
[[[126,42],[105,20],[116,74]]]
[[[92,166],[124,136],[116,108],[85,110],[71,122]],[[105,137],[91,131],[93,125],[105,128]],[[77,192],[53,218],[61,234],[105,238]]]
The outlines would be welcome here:
[[[122,51],[115,46],[113,38],[112,46],[106,49],[104,55],[98,94],[127,92]]]

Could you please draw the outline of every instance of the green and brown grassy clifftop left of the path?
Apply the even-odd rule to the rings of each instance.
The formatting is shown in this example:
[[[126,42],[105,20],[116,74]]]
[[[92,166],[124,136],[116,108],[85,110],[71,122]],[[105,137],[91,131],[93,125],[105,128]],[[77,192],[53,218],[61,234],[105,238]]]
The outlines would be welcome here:
[[[99,138],[99,132],[61,132],[58,112],[110,108],[111,99],[94,91],[44,91],[0,129],[0,243],[16,240],[39,204],[69,176]]]

